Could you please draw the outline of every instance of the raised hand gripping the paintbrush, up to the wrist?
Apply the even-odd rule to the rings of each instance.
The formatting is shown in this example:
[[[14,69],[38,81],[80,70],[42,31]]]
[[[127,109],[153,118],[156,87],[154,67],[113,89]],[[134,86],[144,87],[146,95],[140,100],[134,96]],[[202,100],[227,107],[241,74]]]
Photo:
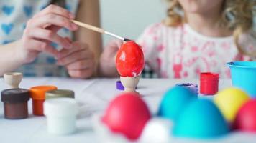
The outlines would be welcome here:
[[[65,49],[71,47],[70,42],[59,36],[57,31],[65,27],[70,31],[78,29],[76,24],[70,21],[74,19],[73,14],[60,6],[50,5],[40,11],[27,22],[26,29],[19,44],[19,52],[22,54],[24,63],[35,60],[41,51],[57,56],[58,51],[50,44],[55,42]]]

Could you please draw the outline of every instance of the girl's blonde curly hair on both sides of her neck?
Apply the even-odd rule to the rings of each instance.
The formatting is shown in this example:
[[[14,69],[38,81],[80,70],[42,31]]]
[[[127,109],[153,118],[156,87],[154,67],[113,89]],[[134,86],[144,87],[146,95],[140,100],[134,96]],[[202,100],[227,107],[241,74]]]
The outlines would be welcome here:
[[[179,26],[186,23],[183,9],[178,0],[165,0],[168,2],[168,17],[163,21],[167,26]],[[253,16],[256,8],[255,0],[224,0],[219,25],[233,31],[234,43],[240,53],[255,57],[256,51],[246,51],[239,45],[239,36],[253,28]],[[180,12],[181,11],[181,12]]]

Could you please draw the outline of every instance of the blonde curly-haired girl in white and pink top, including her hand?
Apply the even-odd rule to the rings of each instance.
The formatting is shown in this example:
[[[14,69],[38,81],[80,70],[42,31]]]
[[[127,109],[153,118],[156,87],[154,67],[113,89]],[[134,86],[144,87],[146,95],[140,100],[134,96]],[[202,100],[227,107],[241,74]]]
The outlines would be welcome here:
[[[228,61],[256,56],[251,0],[168,0],[168,17],[152,24],[137,40],[145,61],[158,77],[195,78],[212,71],[229,77]],[[101,74],[118,75],[112,41],[101,55]]]

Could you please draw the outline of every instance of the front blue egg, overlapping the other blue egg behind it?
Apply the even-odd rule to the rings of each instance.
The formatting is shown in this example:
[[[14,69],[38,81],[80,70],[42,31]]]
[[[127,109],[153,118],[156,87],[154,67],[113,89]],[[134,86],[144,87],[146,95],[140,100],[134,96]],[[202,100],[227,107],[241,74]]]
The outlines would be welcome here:
[[[227,134],[229,126],[213,102],[196,99],[180,114],[172,132],[176,137],[208,139]]]

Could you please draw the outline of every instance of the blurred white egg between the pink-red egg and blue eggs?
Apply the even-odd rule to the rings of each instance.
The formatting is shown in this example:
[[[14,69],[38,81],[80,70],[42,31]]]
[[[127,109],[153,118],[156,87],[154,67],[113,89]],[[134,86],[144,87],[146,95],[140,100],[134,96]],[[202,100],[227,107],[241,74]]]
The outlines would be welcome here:
[[[152,118],[147,122],[140,136],[140,142],[168,143],[170,142],[171,127],[172,122],[168,119]]]

